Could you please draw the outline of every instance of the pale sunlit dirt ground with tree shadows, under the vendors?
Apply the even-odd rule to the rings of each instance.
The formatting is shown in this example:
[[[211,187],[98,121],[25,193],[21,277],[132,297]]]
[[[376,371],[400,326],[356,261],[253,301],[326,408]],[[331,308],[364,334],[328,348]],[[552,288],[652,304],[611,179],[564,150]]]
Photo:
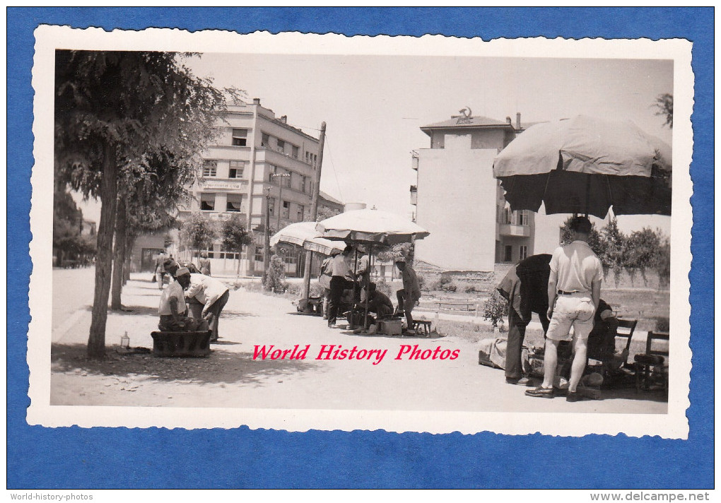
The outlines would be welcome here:
[[[68,281],[78,290],[71,298],[60,286]],[[318,316],[297,314],[287,298],[244,288],[231,291],[221,316],[221,340],[208,357],[121,355],[117,350],[125,331],[131,347],[152,348],[160,294],[148,275],[133,275],[123,291],[123,303],[131,311],[109,313],[107,358],[88,360],[92,274],[54,271],[53,285],[52,405],[624,414],[664,414],[668,405],[658,393],[633,389],[604,391],[597,401],[534,399],[524,396],[524,388],[506,384],[502,370],[478,365],[472,338],[329,329]],[[306,359],[254,359],[256,347],[292,350],[296,344],[301,350],[309,345]],[[374,358],[317,360],[323,345],[332,350],[355,347],[353,355],[361,350],[376,350],[373,356],[386,353],[376,365]],[[407,352],[398,356],[402,350]],[[413,350],[425,351],[428,359],[410,359],[407,353]],[[451,360],[454,352],[457,357]]]

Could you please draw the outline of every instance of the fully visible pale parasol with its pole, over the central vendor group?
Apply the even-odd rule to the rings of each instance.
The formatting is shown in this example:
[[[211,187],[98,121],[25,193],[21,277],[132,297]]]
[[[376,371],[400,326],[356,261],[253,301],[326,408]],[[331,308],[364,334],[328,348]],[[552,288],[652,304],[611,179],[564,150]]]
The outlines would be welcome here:
[[[365,244],[368,246],[368,257],[373,257],[373,246],[412,243],[416,239],[423,239],[430,235],[423,227],[406,218],[376,209],[340,213],[340,215],[318,222],[316,230],[321,232],[324,238],[332,241]],[[357,260],[358,255],[356,254],[356,262]],[[366,270],[366,285],[370,283],[370,270],[371,267]],[[364,319],[368,320],[368,295],[366,295]],[[364,326],[364,328],[368,327]]]

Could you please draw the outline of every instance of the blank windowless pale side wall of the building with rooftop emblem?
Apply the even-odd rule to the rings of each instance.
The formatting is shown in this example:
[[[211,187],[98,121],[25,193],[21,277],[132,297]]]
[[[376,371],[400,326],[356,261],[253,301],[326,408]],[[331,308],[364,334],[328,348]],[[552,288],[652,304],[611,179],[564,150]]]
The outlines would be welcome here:
[[[492,271],[495,262],[497,148],[470,148],[472,136],[448,136],[444,148],[418,150],[416,222],[430,236],[416,257],[444,270]]]

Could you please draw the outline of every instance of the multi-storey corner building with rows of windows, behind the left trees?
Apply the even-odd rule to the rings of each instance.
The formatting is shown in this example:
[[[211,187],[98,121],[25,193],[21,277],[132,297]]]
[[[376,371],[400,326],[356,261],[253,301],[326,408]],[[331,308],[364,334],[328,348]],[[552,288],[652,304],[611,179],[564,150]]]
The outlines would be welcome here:
[[[260,99],[239,102],[218,115],[216,142],[203,153],[202,172],[193,187],[181,220],[200,212],[213,220],[241,214],[254,231],[254,243],[241,259],[244,275],[263,270],[263,229],[266,215],[270,231],[308,220],[319,156],[319,140],[288,125],[285,115],[275,117]],[[319,208],[340,213],[342,203],[319,198]],[[217,239],[207,250],[213,271],[235,271],[236,252],[223,249]],[[189,258],[182,243],[180,257]],[[186,257],[187,256],[187,257]],[[286,262],[293,262],[292,257]]]

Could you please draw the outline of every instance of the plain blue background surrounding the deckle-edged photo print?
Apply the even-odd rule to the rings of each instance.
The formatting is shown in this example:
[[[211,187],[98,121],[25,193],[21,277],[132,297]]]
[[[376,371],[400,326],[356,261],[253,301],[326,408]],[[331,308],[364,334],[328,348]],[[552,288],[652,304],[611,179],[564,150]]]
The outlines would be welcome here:
[[[713,487],[713,16],[711,8],[8,9],[8,488]],[[28,426],[30,72],[32,31],[40,24],[106,30],[154,26],[345,35],[431,33],[485,40],[531,36],[691,40],[696,86],[689,440]],[[699,215],[701,231],[696,223]]]

